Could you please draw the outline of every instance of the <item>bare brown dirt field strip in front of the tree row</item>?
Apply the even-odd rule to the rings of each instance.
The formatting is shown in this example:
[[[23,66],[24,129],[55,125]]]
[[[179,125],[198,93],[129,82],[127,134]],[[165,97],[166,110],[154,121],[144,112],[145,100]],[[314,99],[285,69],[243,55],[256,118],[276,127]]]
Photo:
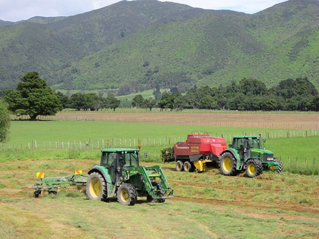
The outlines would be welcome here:
[[[53,119],[106,120],[173,125],[319,129],[318,114],[62,113],[57,114]]]

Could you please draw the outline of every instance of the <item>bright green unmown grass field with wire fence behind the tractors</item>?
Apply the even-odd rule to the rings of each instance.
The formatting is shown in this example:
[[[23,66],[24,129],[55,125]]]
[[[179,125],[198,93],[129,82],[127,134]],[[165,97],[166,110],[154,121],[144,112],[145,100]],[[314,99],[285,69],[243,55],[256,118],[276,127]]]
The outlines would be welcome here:
[[[0,160],[31,157],[96,158],[102,147],[138,147],[140,140],[141,150],[149,154],[148,160],[159,162],[162,148],[172,146],[176,141],[184,141],[192,131],[208,131],[218,137],[223,135],[227,144],[233,135],[258,135],[261,132],[267,137],[266,148],[282,159],[286,170],[305,174],[318,174],[319,171],[319,135],[287,138],[287,130],[281,129],[82,120],[12,121],[10,140],[1,145]],[[269,135],[273,137],[268,138]],[[274,138],[274,135],[278,136]],[[280,135],[283,138],[279,138]],[[76,145],[72,145],[73,142]],[[79,150],[80,142],[83,144],[82,150]],[[86,148],[88,150],[83,150]]]

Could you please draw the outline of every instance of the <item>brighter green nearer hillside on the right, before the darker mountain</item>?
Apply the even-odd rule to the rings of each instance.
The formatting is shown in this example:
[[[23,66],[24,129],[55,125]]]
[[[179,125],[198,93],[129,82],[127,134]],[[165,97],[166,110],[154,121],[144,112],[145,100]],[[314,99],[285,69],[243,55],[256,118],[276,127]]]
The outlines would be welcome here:
[[[291,0],[253,15],[206,12],[150,26],[74,63],[72,87],[173,87],[255,78],[268,87],[296,77],[319,86],[319,1]],[[76,73],[72,74],[72,71]]]

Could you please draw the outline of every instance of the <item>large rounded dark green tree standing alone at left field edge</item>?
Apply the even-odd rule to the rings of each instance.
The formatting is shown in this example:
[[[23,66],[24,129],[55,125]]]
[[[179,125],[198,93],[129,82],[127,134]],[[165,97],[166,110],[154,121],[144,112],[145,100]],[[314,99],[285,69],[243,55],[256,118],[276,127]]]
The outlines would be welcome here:
[[[28,115],[35,120],[37,116],[53,116],[62,110],[58,97],[38,72],[25,74],[15,89],[8,90],[4,97],[8,110],[15,115]]]

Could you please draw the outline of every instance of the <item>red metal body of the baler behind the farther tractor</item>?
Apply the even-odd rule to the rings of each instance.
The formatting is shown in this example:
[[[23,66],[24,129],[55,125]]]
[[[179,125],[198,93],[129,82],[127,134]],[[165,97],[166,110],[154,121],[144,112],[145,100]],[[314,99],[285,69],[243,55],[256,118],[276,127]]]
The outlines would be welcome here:
[[[208,155],[210,152],[219,155],[226,148],[227,144],[224,138],[211,137],[209,134],[188,134],[186,142],[174,144],[174,155]]]

